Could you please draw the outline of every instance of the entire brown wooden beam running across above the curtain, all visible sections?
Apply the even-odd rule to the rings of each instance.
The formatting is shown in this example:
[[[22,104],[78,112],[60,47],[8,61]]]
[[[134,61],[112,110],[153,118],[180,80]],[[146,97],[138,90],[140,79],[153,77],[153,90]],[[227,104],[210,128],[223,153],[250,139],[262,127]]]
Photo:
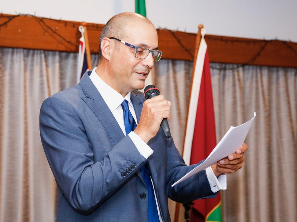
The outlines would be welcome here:
[[[0,14],[0,46],[78,52],[81,22]],[[104,25],[86,23],[92,54]],[[206,27],[207,29],[207,27]],[[157,29],[163,59],[193,61],[196,33]],[[297,67],[297,43],[206,35],[210,62]]]

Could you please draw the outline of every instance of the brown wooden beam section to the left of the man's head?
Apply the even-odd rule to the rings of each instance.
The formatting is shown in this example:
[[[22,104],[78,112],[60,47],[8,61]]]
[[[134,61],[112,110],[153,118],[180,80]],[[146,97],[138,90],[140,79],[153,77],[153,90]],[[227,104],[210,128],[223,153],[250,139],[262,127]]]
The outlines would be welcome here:
[[[53,20],[34,16],[0,15],[0,24],[13,18],[0,27],[0,46],[25,49],[42,49],[62,52],[78,52],[81,22]],[[104,25],[86,23],[90,51],[99,51],[99,36]]]

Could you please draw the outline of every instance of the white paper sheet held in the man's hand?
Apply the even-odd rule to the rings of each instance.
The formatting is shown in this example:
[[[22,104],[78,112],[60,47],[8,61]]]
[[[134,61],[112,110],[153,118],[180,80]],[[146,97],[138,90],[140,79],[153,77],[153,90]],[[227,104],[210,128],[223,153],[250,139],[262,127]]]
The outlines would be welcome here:
[[[221,141],[217,144],[216,147],[211,151],[206,160],[183,176],[181,179],[176,181],[172,186],[179,184],[185,179],[193,176],[201,170],[205,170],[211,165],[214,165],[219,160],[228,157],[230,154],[235,153],[238,147],[241,147],[245,138],[247,137],[247,133],[252,126],[252,123],[256,117],[256,112],[254,112],[254,117],[247,121],[246,123],[241,124],[240,126],[231,126],[227,133],[223,136]]]

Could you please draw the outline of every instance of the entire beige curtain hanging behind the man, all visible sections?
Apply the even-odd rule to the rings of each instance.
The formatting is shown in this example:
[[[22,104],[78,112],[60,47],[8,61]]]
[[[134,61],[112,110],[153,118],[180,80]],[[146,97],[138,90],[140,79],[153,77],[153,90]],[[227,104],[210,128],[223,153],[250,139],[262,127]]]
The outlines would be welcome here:
[[[93,66],[97,59],[92,55]],[[75,85],[76,61],[75,53],[0,47],[0,221],[55,221],[56,184],[38,116],[46,97]],[[228,175],[222,192],[224,221],[296,221],[297,70],[212,66],[219,68],[211,70],[217,140],[257,112],[244,168]],[[186,61],[160,60],[153,69],[172,102],[170,128],[180,151],[191,73]],[[169,206],[174,218],[175,203]]]

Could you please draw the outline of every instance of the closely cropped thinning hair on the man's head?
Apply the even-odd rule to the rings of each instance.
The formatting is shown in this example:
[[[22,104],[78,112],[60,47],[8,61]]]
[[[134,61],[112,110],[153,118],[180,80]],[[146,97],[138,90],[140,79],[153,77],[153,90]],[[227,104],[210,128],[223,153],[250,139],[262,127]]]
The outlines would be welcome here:
[[[153,23],[146,17],[143,17],[142,15],[133,13],[133,12],[123,12],[118,15],[115,15],[108,20],[108,22],[105,24],[105,26],[102,29],[100,40],[99,40],[99,62],[102,59],[102,49],[101,49],[101,42],[102,39],[107,37],[116,37],[118,39],[125,38],[127,35],[125,33],[125,23],[128,21],[136,21],[136,20],[142,20],[146,23],[149,23],[153,25]],[[118,46],[119,42],[116,41],[116,47]]]

